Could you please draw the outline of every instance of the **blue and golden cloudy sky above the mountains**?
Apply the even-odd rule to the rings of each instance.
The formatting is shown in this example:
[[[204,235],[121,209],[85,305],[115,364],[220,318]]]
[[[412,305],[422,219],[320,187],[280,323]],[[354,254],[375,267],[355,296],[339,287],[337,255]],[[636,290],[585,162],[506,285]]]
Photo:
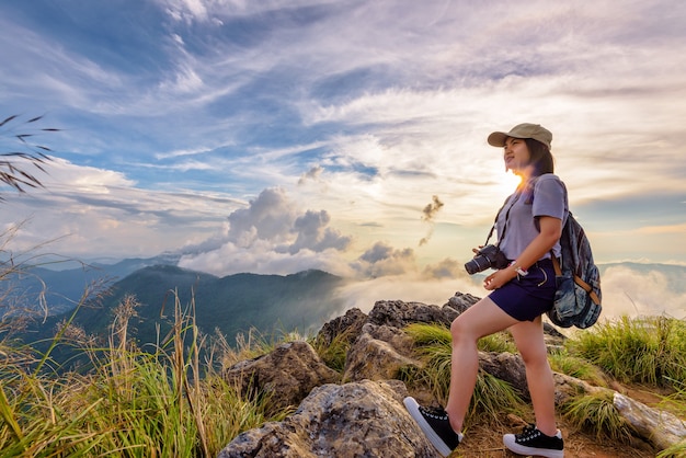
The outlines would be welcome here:
[[[686,265],[685,24],[676,0],[4,0],[0,148],[54,158],[0,190],[4,250],[441,301],[516,184],[485,139],[526,122],[597,263]]]

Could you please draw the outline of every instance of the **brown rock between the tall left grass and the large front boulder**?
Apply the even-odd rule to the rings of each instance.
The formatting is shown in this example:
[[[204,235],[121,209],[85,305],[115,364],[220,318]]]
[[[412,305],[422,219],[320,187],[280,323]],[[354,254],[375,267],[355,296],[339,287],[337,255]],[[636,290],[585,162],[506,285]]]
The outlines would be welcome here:
[[[281,344],[267,355],[235,364],[224,377],[243,394],[267,393],[275,411],[298,405],[312,388],[341,378],[301,341]]]

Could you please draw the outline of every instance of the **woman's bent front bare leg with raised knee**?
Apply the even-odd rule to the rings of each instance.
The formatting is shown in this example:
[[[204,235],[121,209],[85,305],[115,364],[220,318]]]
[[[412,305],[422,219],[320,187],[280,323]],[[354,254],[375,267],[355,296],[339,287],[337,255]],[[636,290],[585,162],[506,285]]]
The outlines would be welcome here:
[[[477,383],[479,373],[479,351],[477,342],[518,323],[505,313],[490,298],[485,297],[471,306],[450,325],[453,335],[453,355],[450,363],[450,392],[445,411],[450,426],[456,432],[462,431],[465,415]]]

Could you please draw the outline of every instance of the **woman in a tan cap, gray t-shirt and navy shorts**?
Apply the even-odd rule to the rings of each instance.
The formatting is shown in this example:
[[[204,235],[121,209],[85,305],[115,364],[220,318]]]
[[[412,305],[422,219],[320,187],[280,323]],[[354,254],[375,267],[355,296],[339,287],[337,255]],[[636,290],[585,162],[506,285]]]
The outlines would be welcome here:
[[[413,398],[404,404],[424,434],[447,456],[462,439],[462,424],[477,373],[479,339],[508,330],[524,359],[536,424],[521,434],[503,436],[505,446],[521,455],[564,456],[554,419],[554,382],[548,364],[541,316],[552,307],[556,279],[552,251],[560,255],[560,234],[568,216],[567,190],[553,175],[552,134],[537,124],[519,124],[508,133],[495,131],[490,145],[504,148],[505,168],[522,183],[501,209],[499,248],[511,260],[490,274],[491,291],[453,321],[450,390],[444,409],[425,409]],[[478,250],[475,250],[478,252]]]

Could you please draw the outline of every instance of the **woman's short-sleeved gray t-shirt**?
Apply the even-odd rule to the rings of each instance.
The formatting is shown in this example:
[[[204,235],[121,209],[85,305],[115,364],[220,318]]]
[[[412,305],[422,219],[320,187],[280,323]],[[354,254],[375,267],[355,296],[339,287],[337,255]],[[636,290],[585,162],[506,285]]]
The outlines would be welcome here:
[[[569,204],[564,183],[552,173],[540,175],[507,198],[498,217],[498,233],[501,234],[503,228],[505,229],[505,238],[500,241],[499,247],[508,260],[516,260],[538,236],[538,217],[551,216],[562,220],[564,226],[568,215]],[[507,218],[506,228],[505,218]],[[556,256],[560,256],[560,242],[554,244],[552,251]],[[546,253],[541,259],[547,257],[550,257],[550,253]]]

